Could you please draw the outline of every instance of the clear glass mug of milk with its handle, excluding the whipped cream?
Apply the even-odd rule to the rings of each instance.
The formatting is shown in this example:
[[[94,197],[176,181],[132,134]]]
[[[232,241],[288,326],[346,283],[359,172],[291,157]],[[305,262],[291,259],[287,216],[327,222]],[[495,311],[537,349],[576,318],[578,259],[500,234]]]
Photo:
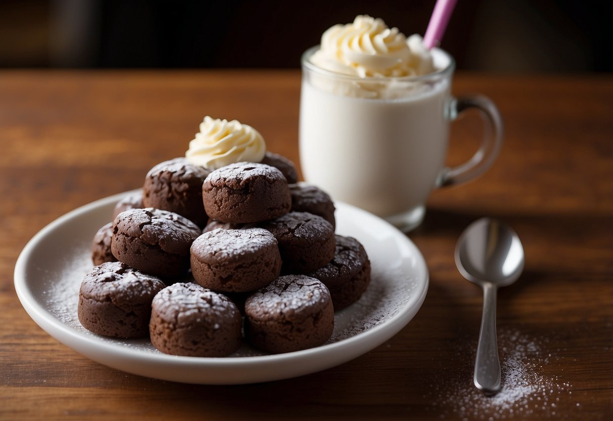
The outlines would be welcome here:
[[[483,174],[502,144],[496,106],[481,96],[451,96],[453,58],[438,48],[437,71],[412,77],[339,74],[302,55],[300,167],[305,181],[386,218],[400,230],[419,225],[425,202],[438,187]],[[469,108],[482,111],[486,131],[466,163],[446,168],[449,125]]]

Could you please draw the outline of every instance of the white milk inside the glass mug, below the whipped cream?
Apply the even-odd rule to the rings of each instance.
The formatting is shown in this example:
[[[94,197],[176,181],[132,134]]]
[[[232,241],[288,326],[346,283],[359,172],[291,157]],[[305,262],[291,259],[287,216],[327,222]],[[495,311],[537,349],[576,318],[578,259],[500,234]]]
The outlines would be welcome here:
[[[444,166],[449,85],[443,79],[416,86],[402,98],[369,99],[330,93],[304,77],[305,179],[383,217],[424,204]]]

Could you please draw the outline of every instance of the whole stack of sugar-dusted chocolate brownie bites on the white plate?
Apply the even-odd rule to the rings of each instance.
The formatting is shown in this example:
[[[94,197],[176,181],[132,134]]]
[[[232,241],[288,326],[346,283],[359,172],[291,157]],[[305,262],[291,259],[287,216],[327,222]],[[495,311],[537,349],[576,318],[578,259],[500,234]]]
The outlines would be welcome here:
[[[364,247],[334,233],[330,196],[270,152],[212,171],[165,161],[113,218],[94,236],[78,319],[105,336],[150,336],[164,353],[319,346],[370,282]]]

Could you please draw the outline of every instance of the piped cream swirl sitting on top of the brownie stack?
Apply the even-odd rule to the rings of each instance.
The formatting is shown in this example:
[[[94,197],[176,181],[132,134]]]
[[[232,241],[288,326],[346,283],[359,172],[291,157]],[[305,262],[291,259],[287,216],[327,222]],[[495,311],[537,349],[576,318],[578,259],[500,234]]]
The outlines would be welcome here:
[[[264,137],[253,127],[207,115],[185,157],[194,165],[217,169],[241,161],[260,162],[265,153]]]

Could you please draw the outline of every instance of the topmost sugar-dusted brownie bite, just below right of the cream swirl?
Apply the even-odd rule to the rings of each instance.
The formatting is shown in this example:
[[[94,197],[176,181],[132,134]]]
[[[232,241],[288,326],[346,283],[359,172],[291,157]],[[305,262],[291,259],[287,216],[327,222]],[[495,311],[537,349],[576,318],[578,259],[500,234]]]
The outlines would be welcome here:
[[[202,185],[207,214],[221,222],[261,222],[289,212],[287,180],[265,164],[240,162],[208,175]]]

